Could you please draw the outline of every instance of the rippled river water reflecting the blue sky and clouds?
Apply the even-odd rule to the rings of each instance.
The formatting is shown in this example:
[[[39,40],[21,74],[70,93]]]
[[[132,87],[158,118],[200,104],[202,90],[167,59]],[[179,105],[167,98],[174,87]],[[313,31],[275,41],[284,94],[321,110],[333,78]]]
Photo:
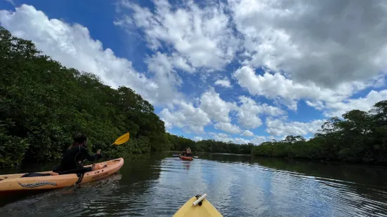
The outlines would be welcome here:
[[[387,216],[387,169],[247,155],[203,153],[192,162],[170,156],[125,159],[118,174],[100,181],[1,198],[0,216],[172,216],[204,193],[223,216]]]

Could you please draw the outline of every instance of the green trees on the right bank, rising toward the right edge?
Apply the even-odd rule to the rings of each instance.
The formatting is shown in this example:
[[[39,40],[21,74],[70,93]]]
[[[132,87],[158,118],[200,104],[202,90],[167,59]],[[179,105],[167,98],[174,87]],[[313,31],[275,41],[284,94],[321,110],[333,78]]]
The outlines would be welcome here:
[[[369,112],[353,110],[343,118],[327,120],[315,138],[288,136],[283,141],[265,142],[253,148],[254,155],[387,163],[387,100]]]

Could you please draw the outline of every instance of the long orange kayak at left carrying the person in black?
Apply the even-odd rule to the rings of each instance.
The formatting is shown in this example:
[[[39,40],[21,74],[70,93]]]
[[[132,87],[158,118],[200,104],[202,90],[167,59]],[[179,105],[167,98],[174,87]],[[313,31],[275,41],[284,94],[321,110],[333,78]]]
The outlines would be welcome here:
[[[44,190],[52,188],[64,188],[77,183],[87,183],[110,176],[124,165],[124,159],[118,158],[96,164],[102,169],[86,172],[83,176],[77,174],[51,175],[52,172],[39,172],[48,176],[21,177],[25,174],[0,175],[0,193],[11,193],[13,191]],[[107,167],[104,167],[107,165]],[[85,166],[91,167],[91,165]]]

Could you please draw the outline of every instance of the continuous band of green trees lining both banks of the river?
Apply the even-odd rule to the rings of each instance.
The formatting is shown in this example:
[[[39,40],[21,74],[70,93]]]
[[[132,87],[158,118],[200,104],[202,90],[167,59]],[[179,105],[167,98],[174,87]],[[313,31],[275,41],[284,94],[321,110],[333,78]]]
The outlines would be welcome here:
[[[125,146],[105,151],[118,158],[152,151],[233,153],[271,157],[387,162],[387,101],[374,109],[331,118],[315,138],[288,136],[260,146],[193,141],[166,132],[155,109],[129,87],[113,89],[93,73],[70,69],[42,54],[31,41],[0,27],[0,167],[60,160],[74,132],[88,135],[95,152],[125,132]]]

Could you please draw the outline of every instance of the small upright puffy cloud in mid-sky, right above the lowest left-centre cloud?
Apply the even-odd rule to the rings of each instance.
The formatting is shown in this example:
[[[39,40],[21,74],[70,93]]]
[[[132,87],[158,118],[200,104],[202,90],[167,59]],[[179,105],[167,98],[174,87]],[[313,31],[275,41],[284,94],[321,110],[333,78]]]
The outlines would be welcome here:
[[[216,121],[230,122],[231,119],[228,116],[228,113],[230,113],[232,109],[235,109],[236,105],[223,101],[220,95],[211,87],[202,94],[199,107],[209,114],[210,118],[213,118]]]

